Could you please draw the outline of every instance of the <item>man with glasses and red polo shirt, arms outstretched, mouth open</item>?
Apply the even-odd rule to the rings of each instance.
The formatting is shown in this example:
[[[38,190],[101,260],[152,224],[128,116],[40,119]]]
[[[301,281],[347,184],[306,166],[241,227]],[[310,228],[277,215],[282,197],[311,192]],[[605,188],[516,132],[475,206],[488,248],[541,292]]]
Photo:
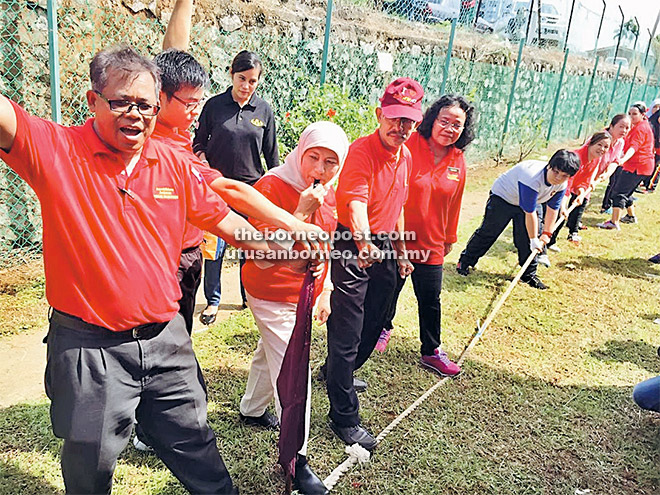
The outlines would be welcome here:
[[[95,117],[83,126],[32,117],[0,96],[0,158],[42,206],[54,308],[46,392],[53,431],[64,439],[66,491],[110,493],[137,418],[189,491],[235,493],[206,421],[175,273],[186,221],[230,239],[254,229],[184,153],[148,139],[159,110],[153,62],[129,47],[102,51],[90,78]]]

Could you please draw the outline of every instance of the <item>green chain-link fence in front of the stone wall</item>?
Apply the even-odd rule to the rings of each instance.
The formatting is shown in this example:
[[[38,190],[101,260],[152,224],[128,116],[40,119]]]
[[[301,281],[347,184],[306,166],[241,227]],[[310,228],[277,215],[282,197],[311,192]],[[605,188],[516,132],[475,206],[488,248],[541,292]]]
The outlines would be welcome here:
[[[278,7],[290,2],[272,1]],[[584,137],[625,111],[629,102],[659,94],[655,51],[646,56],[644,42],[633,40],[621,23],[618,39],[613,19],[585,10],[580,0],[573,15],[581,16],[580,26],[571,29],[578,34],[568,36],[570,56],[563,51],[568,13],[557,8],[555,15],[550,0],[542,0],[540,14],[538,0],[340,0],[327,43],[326,3],[299,1],[296,6],[307,10],[276,26],[265,21],[271,13],[254,7],[244,12],[233,4],[223,12],[200,9],[190,48],[211,75],[211,94],[229,86],[228,66],[239,50],[261,55],[265,70],[259,92],[275,111],[283,154],[314,120],[334,120],[351,139],[371,132],[378,97],[399,76],[422,83],[427,106],[448,92],[475,103],[479,126],[470,148],[473,159],[502,154],[515,159],[548,139]],[[203,2],[197,0],[198,6]],[[26,0],[0,3],[0,91],[48,117],[46,9]],[[530,4],[535,17],[529,15]],[[117,8],[93,0],[66,0],[59,6],[64,124],[89,117],[85,92],[95,52],[127,42],[144,54],[158,53],[167,16],[149,8],[137,1]],[[529,41],[521,44],[523,39]],[[615,50],[610,45],[617,42]],[[577,52],[582,56],[572,55]],[[0,268],[40,252],[38,204],[3,164],[0,220]]]

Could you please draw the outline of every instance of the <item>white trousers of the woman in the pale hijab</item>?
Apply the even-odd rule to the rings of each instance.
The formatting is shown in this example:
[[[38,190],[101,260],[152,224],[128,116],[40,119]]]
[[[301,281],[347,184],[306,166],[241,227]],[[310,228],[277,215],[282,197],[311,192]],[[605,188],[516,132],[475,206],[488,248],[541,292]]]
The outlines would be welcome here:
[[[282,419],[282,406],[277,397],[277,377],[284,353],[296,324],[297,303],[265,301],[246,293],[248,307],[254,315],[261,338],[254,352],[245,394],[241,399],[241,414],[261,416],[275,399],[275,412]],[[305,406],[305,441],[299,453],[307,455],[312,403],[311,372],[307,370],[307,403]]]

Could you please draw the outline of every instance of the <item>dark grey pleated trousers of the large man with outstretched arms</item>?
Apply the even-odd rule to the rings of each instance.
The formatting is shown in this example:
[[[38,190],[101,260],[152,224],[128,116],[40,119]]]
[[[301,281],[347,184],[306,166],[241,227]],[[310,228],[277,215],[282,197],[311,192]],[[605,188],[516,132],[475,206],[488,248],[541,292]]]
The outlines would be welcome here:
[[[46,393],[64,439],[67,494],[109,494],[137,418],[154,451],[195,494],[236,493],[206,421],[206,385],[181,315],[149,333],[112,332],[55,311]]]

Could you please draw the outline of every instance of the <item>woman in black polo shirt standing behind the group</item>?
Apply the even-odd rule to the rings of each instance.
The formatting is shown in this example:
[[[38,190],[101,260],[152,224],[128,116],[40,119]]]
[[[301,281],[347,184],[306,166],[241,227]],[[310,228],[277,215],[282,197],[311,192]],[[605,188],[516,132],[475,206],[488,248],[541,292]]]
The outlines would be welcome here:
[[[229,70],[232,85],[206,102],[193,140],[194,152],[209,166],[229,179],[250,185],[265,172],[261,155],[268,169],[279,165],[273,110],[255,94],[261,72],[261,60],[256,53],[242,51],[236,55]],[[215,321],[220,304],[224,248],[224,241],[218,239],[216,259],[206,260],[204,264],[207,306],[200,320],[206,325]],[[241,295],[245,306],[242,285]]]

